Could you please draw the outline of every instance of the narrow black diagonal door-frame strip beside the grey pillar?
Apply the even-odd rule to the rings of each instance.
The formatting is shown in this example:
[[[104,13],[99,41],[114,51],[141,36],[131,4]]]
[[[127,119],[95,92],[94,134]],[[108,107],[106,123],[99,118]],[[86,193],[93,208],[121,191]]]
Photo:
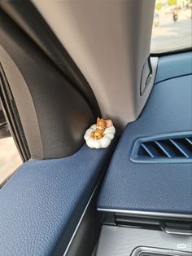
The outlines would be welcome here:
[[[55,33],[52,32],[36,7],[33,6],[33,3],[28,0],[3,1],[0,3],[0,7],[33,39],[33,42],[41,48],[55,66],[59,68],[60,72],[76,87],[76,90],[81,93],[87,104],[89,104],[94,117],[100,117],[101,112],[98,102],[89,83],[58,38],[56,38]]]

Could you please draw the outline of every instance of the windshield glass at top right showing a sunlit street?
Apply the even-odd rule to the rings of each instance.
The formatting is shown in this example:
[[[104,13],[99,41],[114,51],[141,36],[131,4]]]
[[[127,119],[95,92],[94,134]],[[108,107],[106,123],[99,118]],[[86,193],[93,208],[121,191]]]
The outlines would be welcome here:
[[[192,0],[156,0],[151,53],[190,48]]]

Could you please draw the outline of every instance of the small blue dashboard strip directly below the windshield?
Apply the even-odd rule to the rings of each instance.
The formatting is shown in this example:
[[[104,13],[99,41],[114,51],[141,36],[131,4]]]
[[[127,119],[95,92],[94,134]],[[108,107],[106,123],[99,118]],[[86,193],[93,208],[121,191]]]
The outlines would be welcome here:
[[[192,73],[192,52],[159,58],[155,82],[186,76]]]

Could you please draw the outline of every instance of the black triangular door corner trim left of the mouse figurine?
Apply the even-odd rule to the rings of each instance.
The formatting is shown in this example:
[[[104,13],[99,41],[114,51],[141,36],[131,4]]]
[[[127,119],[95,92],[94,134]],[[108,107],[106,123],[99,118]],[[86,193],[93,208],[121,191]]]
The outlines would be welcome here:
[[[94,122],[85,97],[45,52],[0,9],[2,67],[33,159],[67,157]]]

